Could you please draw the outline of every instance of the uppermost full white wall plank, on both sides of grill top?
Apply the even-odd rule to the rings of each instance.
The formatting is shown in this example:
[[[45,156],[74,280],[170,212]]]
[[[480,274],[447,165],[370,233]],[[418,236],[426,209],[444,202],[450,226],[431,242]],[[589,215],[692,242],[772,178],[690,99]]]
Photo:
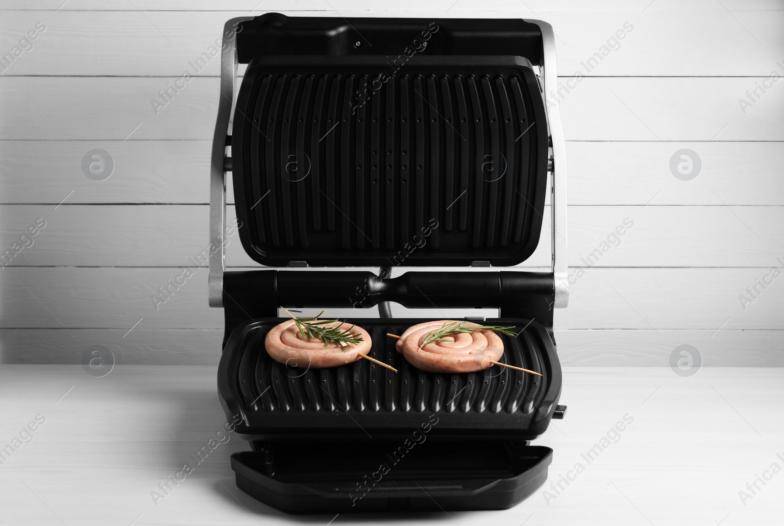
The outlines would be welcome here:
[[[445,2],[443,9],[421,2],[408,3],[408,9],[403,5],[390,6],[391,9],[374,6],[372,13],[364,5],[359,9],[355,5],[336,9],[342,16],[541,16],[553,24],[558,35],[557,67],[561,76],[574,76],[577,72],[591,76],[770,76],[772,70],[784,73],[784,67],[776,65],[782,60],[784,44],[780,20],[767,10],[743,8],[728,13],[719,5],[685,11],[655,5],[643,13],[645,5],[627,5],[611,13],[588,10],[585,6],[565,10],[529,4],[529,9],[519,2],[489,6],[460,2],[447,14],[454,2]],[[215,51],[220,49],[220,41],[217,46],[215,42],[221,37],[223,24],[230,18],[249,14],[254,7],[243,5],[239,12],[202,12],[196,8],[170,12],[150,5],[153,10],[141,13],[125,3],[125,11],[107,11],[101,6],[102,10],[85,13],[67,9],[70,4],[56,16],[26,10],[4,13],[0,49],[12,49],[39,21],[46,27],[32,42],[32,49],[22,53],[5,74],[181,76],[183,71],[190,71],[220,75],[220,56]],[[274,4],[260,7],[262,10],[256,14],[275,10]],[[307,9],[307,4],[302,7]],[[318,9],[312,13],[291,11],[292,5],[278,8],[295,16],[338,16],[327,4],[318,2],[310,5],[310,9]],[[84,60],[84,49],[92,50],[89,60]],[[202,53],[207,53],[206,66],[191,66]],[[592,64],[588,61],[594,53],[597,57]],[[673,60],[673,56],[678,60]]]

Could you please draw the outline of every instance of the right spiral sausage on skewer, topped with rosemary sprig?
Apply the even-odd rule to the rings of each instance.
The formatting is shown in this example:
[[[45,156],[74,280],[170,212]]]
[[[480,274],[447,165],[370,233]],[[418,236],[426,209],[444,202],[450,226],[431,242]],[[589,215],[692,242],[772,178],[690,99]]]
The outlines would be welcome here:
[[[437,331],[453,320],[426,321],[406,329],[397,340],[395,349],[416,368],[429,372],[476,372],[492,367],[503,355],[503,341],[495,332],[457,332],[449,342],[420,343],[430,332]],[[468,323],[470,327],[479,324]]]

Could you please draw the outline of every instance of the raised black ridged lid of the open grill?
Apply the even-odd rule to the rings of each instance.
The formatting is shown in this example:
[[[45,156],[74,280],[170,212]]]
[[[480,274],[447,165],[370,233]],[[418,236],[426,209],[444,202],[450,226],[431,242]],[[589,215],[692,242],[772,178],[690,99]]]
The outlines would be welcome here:
[[[343,19],[240,24],[249,66],[232,170],[253,259],[506,266],[531,256],[548,158],[532,68],[541,33],[522,20],[467,22],[352,19],[369,41],[358,45]]]

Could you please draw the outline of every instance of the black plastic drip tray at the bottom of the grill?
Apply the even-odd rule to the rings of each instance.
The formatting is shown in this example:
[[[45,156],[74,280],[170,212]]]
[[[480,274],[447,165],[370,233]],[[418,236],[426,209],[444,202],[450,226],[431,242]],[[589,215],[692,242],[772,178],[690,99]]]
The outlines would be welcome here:
[[[552,450],[499,441],[285,441],[235,453],[244,492],[289,513],[500,510],[547,477]]]

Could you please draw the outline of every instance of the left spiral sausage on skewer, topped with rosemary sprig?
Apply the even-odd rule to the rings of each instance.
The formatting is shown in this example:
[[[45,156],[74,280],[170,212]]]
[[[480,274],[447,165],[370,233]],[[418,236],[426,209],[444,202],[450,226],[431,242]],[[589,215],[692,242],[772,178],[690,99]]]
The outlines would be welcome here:
[[[322,327],[343,327],[348,330],[351,325],[343,321],[321,325]],[[299,329],[296,328],[294,320],[287,320],[279,325],[275,325],[267,338],[264,339],[264,346],[267,353],[281,364],[291,367],[321,369],[327,367],[337,367],[346,365],[360,359],[360,354],[367,354],[370,351],[372,342],[370,335],[364,328],[354,325],[351,328],[354,335],[361,337],[360,343],[349,343],[346,346],[339,346],[335,342],[327,345],[320,339],[303,338]]]

